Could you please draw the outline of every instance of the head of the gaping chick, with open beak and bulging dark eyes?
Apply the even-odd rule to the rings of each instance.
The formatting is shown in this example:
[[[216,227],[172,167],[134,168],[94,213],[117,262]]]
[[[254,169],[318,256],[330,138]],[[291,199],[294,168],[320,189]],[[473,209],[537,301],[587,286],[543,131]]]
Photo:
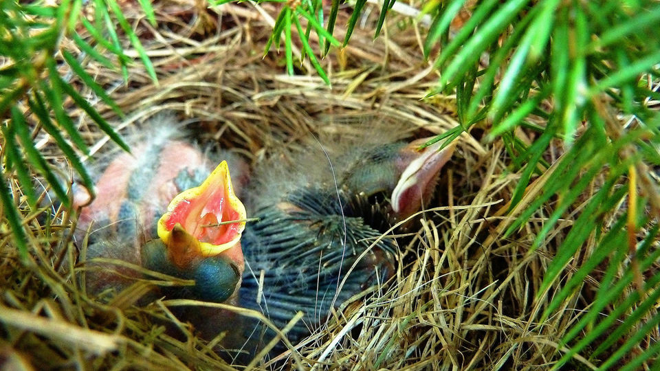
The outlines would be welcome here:
[[[223,302],[236,291],[244,269],[241,234],[245,206],[234,194],[222,161],[201,186],[181,192],[159,219],[159,240],[142,248],[143,264],[195,280],[201,300]]]

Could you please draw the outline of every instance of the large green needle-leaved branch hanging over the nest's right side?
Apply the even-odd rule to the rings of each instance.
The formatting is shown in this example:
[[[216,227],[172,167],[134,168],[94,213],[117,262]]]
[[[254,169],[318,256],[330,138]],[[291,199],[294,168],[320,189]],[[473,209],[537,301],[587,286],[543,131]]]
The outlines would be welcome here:
[[[588,239],[596,238],[597,249],[550,298],[540,321],[553,315],[586,276],[607,262],[606,279],[600,282],[595,302],[562,339],[560,345],[569,346],[569,352],[555,368],[596,339],[599,343],[588,355],[590,361],[611,367],[641,339],[651,337],[660,321],[651,304],[657,304],[660,274],[646,282],[639,279],[643,272],[652,272],[651,265],[660,256],[657,185],[648,168],[659,164],[660,117],[647,105],[650,98],[658,97],[660,45],[653,35],[660,5],[655,1],[486,0],[452,35],[450,21],[463,3],[444,1],[427,10],[434,21],[424,52],[430,56],[438,45],[441,50],[434,58],[441,78],[430,95],[455,90],[463,128],[488,117],[492,120],[489,137],[502,135],[509,144],[512,168],[522,167],[509,210],[520,202],[538,169],[548,168],[542,157],[555,139],[561,138],[568,148],[547,170],[550,177],[542,192],[522,214],[514,215],[516,220],[506,234],[516,232],[542,205],[556,198],[552,214],[536,236],[534,247],[538,247],[549,240],[548,233],[560,218],[582,203],[573,228],[547,267],[538,298],[548,295]],[[489,63],[483,63],[484,58]],[[547,124],[531,126],[534,117]],[[628,120],[626,126],[621,126],[622,119]],[[533,128],[540,135],[526,146],[516,141],[512,133],[516,126]],[[636,177],[641,180],[635,181]],[[593,186],[597,191],[584,201],[583,195]],[[617,216],[617,223],[607,227],[605,221],[625,202],[637,206],[629,207],[628,214]],[[639,235],[643,241],[637,243]],[[615,274],[623,276],[615,280]],[[613,312],[602,317],[600,313],[606,310]],[[615,344],[620,339],[625,339],[622,347]],[[607,357],[601,362],[603,355]],[[657,355],[658,347],[652,346],[640,357]],[[633,359],[628,367],[639,363]]]

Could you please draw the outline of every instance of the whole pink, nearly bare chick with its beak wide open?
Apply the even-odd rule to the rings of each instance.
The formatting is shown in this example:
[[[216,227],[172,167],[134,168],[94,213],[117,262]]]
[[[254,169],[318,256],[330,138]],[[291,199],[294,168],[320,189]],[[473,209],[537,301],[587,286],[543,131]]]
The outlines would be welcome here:
[[[88,259],[115,258],[195,280],[175,296],[224,302],[243,272],[245,207],[234,193],[230,168],[240,184],[245,164],[226,153],[230,165],[223,161],[211,171],[217,163],[178,139],[179,129],[173,115],[157,115],[131,154],[110,161],[96,183],[98,196],[80,212],[78,239],[91,225]],[[74,201],[83,205],[87,197],[78,192]],[[87,276],[90,291],[118,292],[135,271],[101,265]]]

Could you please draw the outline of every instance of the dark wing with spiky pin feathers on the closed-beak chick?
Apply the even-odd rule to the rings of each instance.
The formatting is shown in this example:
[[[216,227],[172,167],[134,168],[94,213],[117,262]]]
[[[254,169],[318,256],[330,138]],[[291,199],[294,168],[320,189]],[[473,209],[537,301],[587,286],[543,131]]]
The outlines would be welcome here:
[[[277,326],[303,311],[303,324],[289,333],[295,341],[318,328],[332,306],[377,284],[377,277],[390,276],[395,246],[384,238],[358,261],[382,233],[364,224],[355,214],[359,204],[344,192],[304,188],[285,201],[293,207],[265,207],[256,213],[260,221],[245,229],[240,295],[242,306],[262,311]],[[382,254],[387,258],[376,257]],[[347,276],[356,262],[357,269]],[[257,304],[262,270],[263,291]]]

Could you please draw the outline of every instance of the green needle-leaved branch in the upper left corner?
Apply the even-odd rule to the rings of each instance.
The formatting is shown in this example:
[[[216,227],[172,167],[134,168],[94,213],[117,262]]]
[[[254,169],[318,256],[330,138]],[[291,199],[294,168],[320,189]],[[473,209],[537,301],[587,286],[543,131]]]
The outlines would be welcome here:
[[[147,1],[141,3],[148,19],[155,23],[151,5]],[[65,100],[71,98],[115,143],[129,150],[94,106],[69,84],[63,74],[72,71],[102,102],[123,116],[117,104],[83,67],[85,58],[92,58],[108,68],[121,68],[124,78],[127,78],[126,65],[130,59],[123,54],[120,38],[114,30],[117,21],[140,54],[148,74],[154,80],[156,78],[144,48],[124,19],[119,5],[114,0],[96,0],[94,5],[94,19],[89,21],[80,16],[83,0],[63,1],[57,7],[41,1],[23,4],[0,0],[0,55],[5,58],[0,69],[0,118],[3,120],[5,154],[0,200],[23,257],[27,254],[27,246],[18,209],[22,201],[17,196],[23,192],[28,206],[32,210],[38,207],[32,173],[38,173],[47,181],[63,205],[71,205],[61,180],[35,146],[34,138],[39,131],[43,129],[54,139],[83,179],[84,186],[93,194],[94,184],[80,160],[80,155],[88,153],[87,144],[67,113]],[[91,35],[89,41],[80,35],[83,30]],[[61,47],[60,41],[64,37],[71,38],[83,51],[80,58]],[[116,65],[100,49],[114,54]],[[57,57],[58,54],[63,60]],[[63,68],[62,63],[67,68]],[[5,178],[5,174],[10,172],[15,172],[20,182],[20,192],[13,190]]]

